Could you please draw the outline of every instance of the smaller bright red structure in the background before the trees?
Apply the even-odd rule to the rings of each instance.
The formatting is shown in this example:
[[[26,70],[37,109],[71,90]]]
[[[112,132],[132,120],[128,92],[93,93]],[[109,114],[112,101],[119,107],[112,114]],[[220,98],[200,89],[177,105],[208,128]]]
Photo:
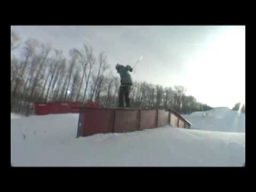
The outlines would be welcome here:
[[[35,115],[79,113],[81,102],[34,103]]]

